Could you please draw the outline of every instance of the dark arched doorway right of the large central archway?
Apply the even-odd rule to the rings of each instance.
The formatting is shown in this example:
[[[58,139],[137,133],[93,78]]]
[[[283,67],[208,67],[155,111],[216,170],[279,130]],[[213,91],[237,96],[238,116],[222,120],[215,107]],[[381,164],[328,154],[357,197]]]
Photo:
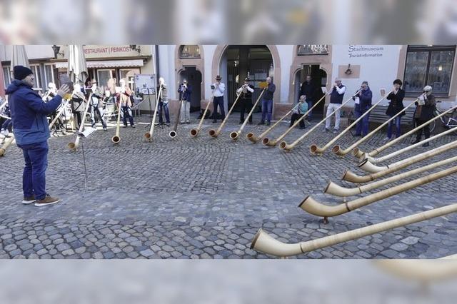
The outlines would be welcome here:
[[[326,71],[321,69],[320,65],[318,64],[303,64],[302,68],[298,69],[294,76],[293,103],[298,102],[298,98],[300,98],[301,84],[305,81],[306,76],[308,75],[311,76],[311,83],[313,83],[314,87],[316,88],[316,95],[314,96],[314,101],[318,101],[324,95],[322,89],[319,88],[326,87]],[[316,116],[322,116],[324,105],[325,102],[319,103],[318,106],[316,106],[316,108],[313,108],[313,113],[315,113]]]

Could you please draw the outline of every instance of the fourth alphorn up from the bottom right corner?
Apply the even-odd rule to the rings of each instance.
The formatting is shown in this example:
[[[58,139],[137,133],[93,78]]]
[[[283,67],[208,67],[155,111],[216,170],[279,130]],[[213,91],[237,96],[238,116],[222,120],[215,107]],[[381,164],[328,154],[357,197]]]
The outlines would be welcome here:
[[[395,172],[400,169],[411,166],[413,163],[418,163],[419,161],[423,161],[424,159],[431,158],[433,156],[436,156],[440,153],[446,152],[453,148],[457,148],[457,141],[453,141],[451,143],[446,143],[446,145],[440,146],[438,148],[434,148],[433,150],[428,151],[426,153],[421,153],[421,154],[418,154],[411,158],[403,159],[403,161],[398,161],[397,163],[393,163],[389,166],[386,166],[386,169],[384,169],[383,171],[371,173],[366,176],[358,176],[355,173],[352,173],[351,171],[348,171],[346,169],[346,171],[343,173],[343,176],[341,177],[341,179],[343,181],[350,181],[352,183],[368,183],[369,181],[374,181],[376,178],[386,176],[387,174],[390,174],[392,172]],[[364,162],[362,162],[361,165],[363,165]],[[371,166],[374,167],[374,165],[371,165]]]

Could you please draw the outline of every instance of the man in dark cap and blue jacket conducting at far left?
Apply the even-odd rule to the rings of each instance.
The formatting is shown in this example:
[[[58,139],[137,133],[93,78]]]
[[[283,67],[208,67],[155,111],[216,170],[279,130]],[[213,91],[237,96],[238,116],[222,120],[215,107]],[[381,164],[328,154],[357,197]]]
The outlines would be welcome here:
[[[69,92],[69,86],[61,86],[56,97],[46,103],[32,90],[35,76],[31,69],[14,66],[13,73],[15,80],[6,89],[6,94],[9,95],[14,137],[26,163],[22,177],[22,203],[35,203],[35,206],[59,203],[59,198],[52,198],[46,194],[50,137],[46,116],[60,106],[62,97]]]

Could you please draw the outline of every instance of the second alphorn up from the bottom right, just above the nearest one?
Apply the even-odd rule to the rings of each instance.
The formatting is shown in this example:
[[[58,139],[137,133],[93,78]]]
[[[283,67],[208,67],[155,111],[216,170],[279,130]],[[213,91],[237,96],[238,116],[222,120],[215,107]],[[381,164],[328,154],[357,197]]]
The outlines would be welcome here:
[[[424,176],[422,178],[417,178],[413,181],[408,181],[406,183],[402,183],[401,185],[394,186],[392,188],[388,188],[383,191],[379,191],[377,193],[370,194],[369,196],[363,196],[363,198],[357,198],[353,201],[348,201],[346,203],[341,203],[336,206],[327,206],[323,203],[319,203],[315,199],[311,198],[311,196],[307,196],[301,203],[298,205],[303,211],[310,213],[314,216],[323,216],[324,222],[326,218],[329,216],[340,216],[341,214],[348,213],[350,211],[354,211],[358,208],[363,206],[370,205],[376,201],[381,201],[384,198],[389,198],[391,196],[395,196],[398,193],[402,193],[412,188],[416,188],[418,186],[424,185],[426,183],[430,183],[432,181],[436,181],[438,178],[443,178],[449,176],[453,173],[457,172],[457,166],[429,174],[428,176]]]

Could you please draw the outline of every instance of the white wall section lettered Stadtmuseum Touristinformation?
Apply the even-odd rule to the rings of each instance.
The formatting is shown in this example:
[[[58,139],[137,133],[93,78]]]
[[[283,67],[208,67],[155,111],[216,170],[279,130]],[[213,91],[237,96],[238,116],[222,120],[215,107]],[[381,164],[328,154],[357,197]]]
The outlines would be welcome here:
[[[400,56],[400,48],[398,45],[382,45],[382,46],[367,46],[367,47],[382,47],[382,51],[356,51],[350,52],[349,45],[333,45],[332,46],[332,75],[333,79],[329,79],[333,84],[334,78],[338,76],[338,66],[348,66],[348,64],[360,65],[360,78],[344,78],[341,77],[342,83],[346,86],[346,94],[344,100],[351,97],[360,88],[362,81],[368,81],[368,85],[373,91],[373,103],[381,98],[380,89],[386,88],[386,93],[393,87],[393,81],[397,78],[398,58]],[[355,46],[359,47],[359,46]],[[349,54],[381,54],[378,57],[353,57]],[[381,102],[382,105],[387,105],[388,101]],[[348,106],[353,106],[353,101],[348,103]]]

